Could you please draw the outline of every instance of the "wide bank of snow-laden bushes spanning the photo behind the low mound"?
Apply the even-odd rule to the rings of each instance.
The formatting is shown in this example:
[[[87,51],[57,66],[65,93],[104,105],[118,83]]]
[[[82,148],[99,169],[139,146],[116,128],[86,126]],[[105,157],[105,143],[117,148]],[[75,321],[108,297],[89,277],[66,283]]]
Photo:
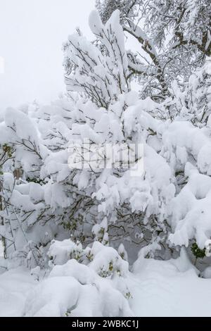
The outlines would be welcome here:
[[[96,41],[78,30],[64,44],[68,95],[50,106],[8,108],[1,119],[0,235],[17,263],[48,268],[52,239],[81,242],[75,255],[60,246],[67,261],[80,261],[95,241],[106,249],[124,243],[134,259],[142,248],[169,258],[178,246],[196,241],[203,249],[210,239],[210,58],[181,86],[173,77],[161,99],[140,99],[120,23],[119,11],[105,25],[91,13]],[[70,166],[84,139],[101,149],[141,145],[139,173],[91,161],[79,168],[79,158]]]

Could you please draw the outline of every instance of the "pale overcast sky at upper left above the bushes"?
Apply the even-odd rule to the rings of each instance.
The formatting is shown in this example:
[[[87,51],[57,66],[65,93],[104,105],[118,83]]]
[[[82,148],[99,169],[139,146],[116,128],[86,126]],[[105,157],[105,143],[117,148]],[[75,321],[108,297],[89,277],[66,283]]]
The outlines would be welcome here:
[[[0,0],[0,109],[49,103],[65,87],[61,46],[88,18],[95,0]],[[1,69],[1,60],[0,60]]]

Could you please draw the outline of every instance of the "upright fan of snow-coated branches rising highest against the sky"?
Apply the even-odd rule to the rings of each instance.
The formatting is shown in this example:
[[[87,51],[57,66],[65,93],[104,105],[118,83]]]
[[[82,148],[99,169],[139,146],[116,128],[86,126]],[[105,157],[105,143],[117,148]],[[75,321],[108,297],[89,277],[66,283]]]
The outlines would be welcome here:
[[[82,35],[71,35],[65,44],[66,85],[68,91],[82,92],[103,108],[119,94],[128,91],[127,54],[124,33],[115,11],[106,25],[97,12],[89,16],[91,31],[98,38],[101,51]]]

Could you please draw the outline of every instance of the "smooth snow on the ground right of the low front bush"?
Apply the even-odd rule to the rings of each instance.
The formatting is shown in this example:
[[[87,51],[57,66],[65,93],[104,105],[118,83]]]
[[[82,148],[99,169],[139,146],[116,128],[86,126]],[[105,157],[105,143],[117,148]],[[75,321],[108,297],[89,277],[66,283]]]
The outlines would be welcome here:
[[[211,279],[172,262],[145,261],[130,280],[135,316],[211,316]]]

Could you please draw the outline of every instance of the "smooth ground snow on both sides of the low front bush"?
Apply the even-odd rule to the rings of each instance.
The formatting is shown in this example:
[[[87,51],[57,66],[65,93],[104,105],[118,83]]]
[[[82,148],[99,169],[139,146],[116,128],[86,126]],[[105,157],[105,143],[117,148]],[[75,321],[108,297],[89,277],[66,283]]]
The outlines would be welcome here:
[[[23,268],[1,274],[0,316],[23,316],[29,291],[38,284]],[[179,259],[139,259],[127,285],[134,316],[211,315],[211,279],[198,277],[191,266],[183,268]]]

